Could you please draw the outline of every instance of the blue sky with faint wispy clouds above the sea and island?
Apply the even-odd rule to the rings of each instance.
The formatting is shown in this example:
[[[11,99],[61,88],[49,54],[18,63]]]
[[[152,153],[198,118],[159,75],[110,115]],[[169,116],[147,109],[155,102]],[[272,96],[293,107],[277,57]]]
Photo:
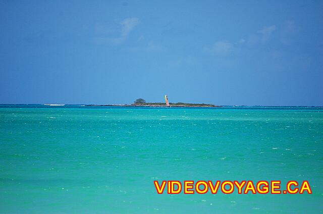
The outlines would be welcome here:
[[[323,1],[1,1],[0,103],[323,105]]]

